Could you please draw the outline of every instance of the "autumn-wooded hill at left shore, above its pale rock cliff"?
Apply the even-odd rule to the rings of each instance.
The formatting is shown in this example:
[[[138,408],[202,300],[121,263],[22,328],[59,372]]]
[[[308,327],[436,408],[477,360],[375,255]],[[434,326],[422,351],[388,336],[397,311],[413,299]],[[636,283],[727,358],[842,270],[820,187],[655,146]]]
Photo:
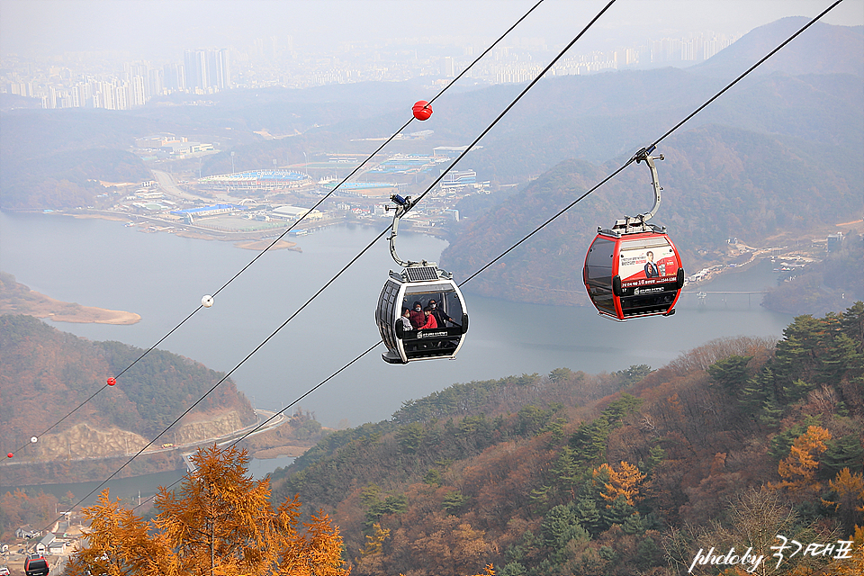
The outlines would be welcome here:
[[[25,446],[32,435],[41,434],[67,416],[144,352],[120,342],[77,338],[20,315],[0,316],[0,351],[0,428],[4,431],[0,443],[4,454]],[[94,396],[51,432],[63,434],[86,424],[149,439],[222,376],[183,356],[153,350],[115,386]],[[184,421],[212,419],[228,412],[236,412],[245,424],[255,419],[249,402],[230,380],[208,395]],[[40,442],[31,450],[40,449],[45,439]]]

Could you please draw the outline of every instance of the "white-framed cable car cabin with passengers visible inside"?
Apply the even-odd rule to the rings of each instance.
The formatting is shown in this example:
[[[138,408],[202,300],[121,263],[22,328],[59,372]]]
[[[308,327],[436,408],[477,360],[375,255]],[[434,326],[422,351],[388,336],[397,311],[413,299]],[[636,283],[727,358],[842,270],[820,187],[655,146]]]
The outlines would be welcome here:
[[[435,320],[436,328],[419,328],[415,316],[410,320],[411,329],[403,328],[401,316],[406,308],[414,311],[419,303],[420,308],[425,309],[432,301],[442,313],[430,315],[443,320],[443,326]],[[387,347],[382,358],[390,364],[455,358],[468,331],[468,313],[462,293],[452,275],[437,266],[409,266],[401,274],[391,271],[378,299],[375,321]]]

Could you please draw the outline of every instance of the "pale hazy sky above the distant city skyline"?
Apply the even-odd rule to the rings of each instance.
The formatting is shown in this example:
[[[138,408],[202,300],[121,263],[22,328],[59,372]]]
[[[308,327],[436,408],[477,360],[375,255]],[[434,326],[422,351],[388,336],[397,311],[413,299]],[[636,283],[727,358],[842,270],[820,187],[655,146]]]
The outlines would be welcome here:
[[[561,45],[607,0],[546,0],[518,37]],[[492,38],[536,0],[0,0],[0,50],[22,56],[128,50],[176,58],[183,49],[291,35],[309,51],[344,41],[419,36]],[[687,31],[743,33],[785,16],[814,16],[831,0],[618,0],[585,40],[626,42]],[[864,24],[864,0],[845,0],[827,23]],[[612,47],[614,48],[614,47]]]

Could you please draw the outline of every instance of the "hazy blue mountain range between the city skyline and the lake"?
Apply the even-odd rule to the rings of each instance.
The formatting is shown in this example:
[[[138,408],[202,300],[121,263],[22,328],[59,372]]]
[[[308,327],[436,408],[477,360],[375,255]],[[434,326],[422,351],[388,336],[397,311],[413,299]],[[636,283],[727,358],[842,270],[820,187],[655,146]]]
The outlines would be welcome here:
[[[786,18],[762,26],[688,69],[544,78],[482,139],[482,148],[456,166],[472,168],[493,189],[521,185],[515,193],[472,196],[459,206],[467,220],[452,230],[443,265],[457,275],[473,273],[804,23]],[[864,28],[816,23],[660,143],[657,152],[667,160],[658,168],[665,194],[656,219],[669,226],[686,267],[710,261],[729,237],[758,245],[861,214],[861,54]],[[523,87],[448,92],[429,121],[405,130],[434,133],[394,142],[391,151],[468,144]],[[135,137],[159,131],[213,141],[222,151],[204,160],[202,174],[227,172],[232,152],[238,170],[269,166],[272,158],[301,163],[304,152],[369,152],[378,142],[354,140],[388,136],[417,94],[428,93],[419,82],[370,83],[232,91],[213,95],[211,105],[178,105],[189,96],[173,96],[129,112],[4,112],[0,200],[5,209],[81,205],[100,190],[90,180],[145,174],[146,166],[127,150]],[[264,139],[255,130],[295,136]],[[417,192],[429,182],[419,182]],[[580,290],[575,284],[594,230],[647,210],[648,182],[643,166],[631,166],[514,253],[506,273],[492,269],[467,289],[489,293],[496,287],[500,297],[538,302],[549,300],[518,286]]]

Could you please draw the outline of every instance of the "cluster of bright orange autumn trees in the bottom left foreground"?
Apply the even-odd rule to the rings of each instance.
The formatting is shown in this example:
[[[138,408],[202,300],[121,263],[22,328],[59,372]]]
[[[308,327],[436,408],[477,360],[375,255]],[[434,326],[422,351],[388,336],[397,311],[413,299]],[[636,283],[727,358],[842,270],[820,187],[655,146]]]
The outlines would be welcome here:
[[[246,450],[199,449],[179,491],[160,488],[152,521],[104,491],[85,508],[91,532],[67,573],[125,576],[347,576],[342,538],[326,515],[298,527],[301,503],[270,503],[269,479],[247,475]]]

